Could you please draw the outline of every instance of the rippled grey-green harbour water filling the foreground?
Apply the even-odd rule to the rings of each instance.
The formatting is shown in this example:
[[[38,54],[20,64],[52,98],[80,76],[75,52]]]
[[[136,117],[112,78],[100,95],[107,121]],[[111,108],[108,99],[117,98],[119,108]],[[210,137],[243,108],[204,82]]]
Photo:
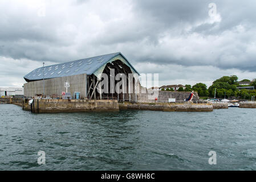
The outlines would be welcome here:
[[[255,170],[255,109],[31,114],[0,105],[1,170]],[[38,151],[46,152],[39,165]],[[217,164],[208,163],[216,151]]]

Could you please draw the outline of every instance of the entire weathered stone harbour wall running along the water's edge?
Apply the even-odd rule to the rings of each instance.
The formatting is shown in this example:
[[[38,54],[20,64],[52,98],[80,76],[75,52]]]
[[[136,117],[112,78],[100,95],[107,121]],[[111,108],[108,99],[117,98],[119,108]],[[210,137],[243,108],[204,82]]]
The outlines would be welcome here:
[[[160,110],[160,111],[213,111],[213,109],[227,109],[227,104],[210,104],[200,102],[171,102],[171,103],[149,103],[149,102],[122,102],[117,100],[34,100],[29,105],[28,99],[1,98],[0,102],[22,106],[24,110],[32,113],[59,113],[79,111],[119,111],[125,109],[137,110]],[[254,105],[256,107],[256,103]],[[242,106],[243,107],[243,106]],[[255,108],[247,106],[247,108]]]

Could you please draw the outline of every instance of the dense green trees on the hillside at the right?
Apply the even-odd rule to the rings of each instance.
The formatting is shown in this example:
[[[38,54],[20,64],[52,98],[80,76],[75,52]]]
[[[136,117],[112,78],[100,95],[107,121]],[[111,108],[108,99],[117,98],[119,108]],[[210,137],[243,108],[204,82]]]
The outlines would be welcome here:
[[[245,79],[241,80],[241,82],[250,82],[250,80]],[[254,86],[254,90],[247,90],[247,89],[241,89],[238,90],[237,86]],[[253,80],[253,82],[250,85],[239,85],[238,83],[238,77],[235,75],[231,76],[223,76],[215,81],[213,81],[213,84],[207,88],[207,86],[203,83],[197,83],[196,85],[185,85],[185,89],[180,87],[178,89],[178,92],[191,92],[194,90],[194,92],[198,93],[198,96],[200,97],[214,97],[214,94],[216,92],[217,98],[243,98],[243,99],[250,99],[251,96],[256,96],[256,79]],[[216,91],[215,91],[216,90]],[[168,91],[173,91],[173,89],[168,89]]]

